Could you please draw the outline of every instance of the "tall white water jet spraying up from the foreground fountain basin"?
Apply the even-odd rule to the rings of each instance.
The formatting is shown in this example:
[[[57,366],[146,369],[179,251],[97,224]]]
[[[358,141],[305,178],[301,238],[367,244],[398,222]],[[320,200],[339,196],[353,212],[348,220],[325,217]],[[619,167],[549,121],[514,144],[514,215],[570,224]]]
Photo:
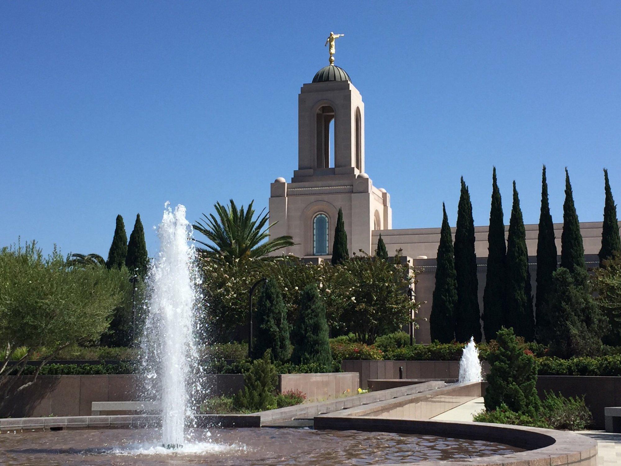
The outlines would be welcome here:
[[[160,393],[162,445],[179,448],[189,409],[189,375],[196,363],[194,309],[197,271],[186,208],[166,203],[158,227],[160,252],[149,270],[148,317],[142,340],[147,392]]]

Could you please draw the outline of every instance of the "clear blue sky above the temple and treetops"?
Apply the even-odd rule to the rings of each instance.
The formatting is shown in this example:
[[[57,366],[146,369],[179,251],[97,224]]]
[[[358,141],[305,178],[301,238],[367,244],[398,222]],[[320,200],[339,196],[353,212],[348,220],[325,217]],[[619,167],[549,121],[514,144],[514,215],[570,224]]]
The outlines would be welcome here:
[[[267,205],[297,164],[297,93],[325,38],[365,101],[366,171],[393,227],[455,224],[460,176],[487,224],[492,165],[509,221],[600,221],[621,200],[621,2],[0,3],[0,244],[107,256],[137,212],[150,254],[165,201]]]

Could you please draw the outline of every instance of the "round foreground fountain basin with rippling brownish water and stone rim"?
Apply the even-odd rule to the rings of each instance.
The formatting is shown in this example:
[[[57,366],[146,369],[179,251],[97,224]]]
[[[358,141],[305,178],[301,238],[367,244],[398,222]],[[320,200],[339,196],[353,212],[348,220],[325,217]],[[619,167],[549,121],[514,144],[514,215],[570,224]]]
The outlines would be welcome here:
[[[228,418],[232,425],[245,419],[244,416],[219,417]],[[202,419],[208,420],[207,416]],[[85,461],[94,465],[179,462],[244,465],[281,464],[299,455],[297,464],[325,466],[354,462],[427,464],[438,459],[469,465],[586,466],[594,465],[597,455],[596,441],[570,432],[502,424],[340,416],[340,413],[316,416],[315,429],[211,429],[215,442],[208,442],[207,429],[199,428],[198,438],[183,450],[168,452],[158,446],[161,439],[160,430],[155,428],[158,424],[160,416],[155,415],[1,419],[0,462],[8,465],[71,465]],[[362,455],[355,455],[356,452]]]

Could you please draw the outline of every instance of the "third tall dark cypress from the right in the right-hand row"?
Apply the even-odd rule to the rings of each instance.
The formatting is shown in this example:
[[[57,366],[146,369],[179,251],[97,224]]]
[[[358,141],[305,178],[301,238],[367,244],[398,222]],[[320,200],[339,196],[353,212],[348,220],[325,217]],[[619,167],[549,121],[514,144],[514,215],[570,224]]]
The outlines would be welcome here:
[[[552,274],[556,270],[556,242],[554,224],[550,214],[548,201],[548,180],[545,165],[542,170],[542,206],[539,214],[537,234],[537,297],[535,300],[535,316],[537,317],[537,333],[546,326],[546,303],[552,293]]]

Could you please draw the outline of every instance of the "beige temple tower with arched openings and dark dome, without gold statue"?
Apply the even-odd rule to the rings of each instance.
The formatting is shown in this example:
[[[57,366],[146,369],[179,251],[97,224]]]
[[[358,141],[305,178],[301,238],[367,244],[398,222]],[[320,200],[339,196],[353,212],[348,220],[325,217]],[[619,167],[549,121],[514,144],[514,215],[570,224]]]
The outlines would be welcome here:
[[[372,254],[371,232],[392,227],[390,196],[365,173],[362,97],[345,70],[329,65],[299,93],[298,167],[291,183],[271,183],[270,222],[278,223],[270,235],[293,237],[284,254],[330,258],[339,208],[350,254]]]

